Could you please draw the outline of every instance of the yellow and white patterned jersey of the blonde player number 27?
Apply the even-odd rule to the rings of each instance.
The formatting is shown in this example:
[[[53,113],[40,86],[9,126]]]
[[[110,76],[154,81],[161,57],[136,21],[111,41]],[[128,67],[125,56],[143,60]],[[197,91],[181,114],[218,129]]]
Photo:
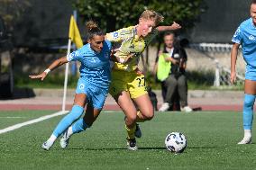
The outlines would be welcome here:
[[[128,55],[133,55],[133,58],[126,63],[114,62],[114,69],[125,71],[135,70],[142,56],[142,52],[158,33],[154,29],[146,37],[140,38],[137,35],[136,27],[130,26],[118,31],[106,33],[106,39],[114,42],[114,48],[118,49],[114,54],[116,57],[125,59]]]

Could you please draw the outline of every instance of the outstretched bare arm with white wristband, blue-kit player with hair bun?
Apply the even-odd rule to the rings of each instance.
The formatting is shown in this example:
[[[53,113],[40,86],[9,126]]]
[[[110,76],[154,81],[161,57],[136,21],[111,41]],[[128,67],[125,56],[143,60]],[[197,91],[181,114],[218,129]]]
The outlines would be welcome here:
[[[52,71],[53,69],[55,69],[55,68],[65,64],[65,63],[68,63],[68,62],[69,61],[68,61],[67,57],[56,59],[55,61],[53,61],[50,64],[50,67],[48,67],[46,70],[44,70],[41,74],[39,74],[39,75],[31,75],[29,77],[32,78],[32,79],[39,79],[39,78],[41,78],[41,81],[43,81],[44,78],[50,73],[50,71]]]

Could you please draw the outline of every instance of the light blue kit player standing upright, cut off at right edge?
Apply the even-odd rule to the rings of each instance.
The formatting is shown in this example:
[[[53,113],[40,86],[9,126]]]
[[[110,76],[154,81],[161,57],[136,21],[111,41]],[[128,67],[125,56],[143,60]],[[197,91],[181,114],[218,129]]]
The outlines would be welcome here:
[[[251,126],[253,105],[256,97],[256,0],[251,1],[251,18],[242,22],[233,35],[231,51],[231,76],[235,82],[235,65],[239,46],[242,45],[242,56],[246,62],[243,102],[244,137],[238,144],[251,144]]]

